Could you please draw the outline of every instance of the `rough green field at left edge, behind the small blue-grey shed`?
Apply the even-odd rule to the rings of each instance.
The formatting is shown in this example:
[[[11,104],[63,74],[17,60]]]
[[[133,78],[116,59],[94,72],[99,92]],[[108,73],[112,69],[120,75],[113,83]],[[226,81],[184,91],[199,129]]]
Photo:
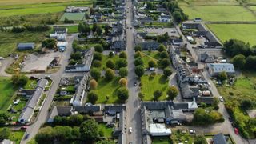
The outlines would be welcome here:
[[[41,43],[49,32],[23,32],[23,33],[0,33],[0,55],[6,57],[8,54],[14,53],[18,42],[35,42]],[[17,51],[16,51],[17,52]]]

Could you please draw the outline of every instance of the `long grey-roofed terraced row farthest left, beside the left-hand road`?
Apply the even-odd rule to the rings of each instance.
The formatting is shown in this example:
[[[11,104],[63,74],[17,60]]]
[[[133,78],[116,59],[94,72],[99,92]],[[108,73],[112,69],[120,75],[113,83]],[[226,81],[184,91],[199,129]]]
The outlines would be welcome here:
[[[22,124],[30,122],[34,114],[34,110],[38,105],[38,102],[43,94],[43,91],[45,90],[47,83],[48,80],[46,79],[41,79],[38,81],[38,86],[35,89],[34,94],[28,100],[28,102],[26,102],[26,106],[22,110],[22,114],[19,116],[18,122],[21,122]]]

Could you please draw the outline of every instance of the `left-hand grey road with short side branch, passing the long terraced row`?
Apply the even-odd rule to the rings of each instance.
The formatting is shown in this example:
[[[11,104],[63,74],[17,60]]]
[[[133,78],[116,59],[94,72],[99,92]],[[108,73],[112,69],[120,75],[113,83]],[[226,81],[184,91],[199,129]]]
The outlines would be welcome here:
[[[58,70],[58,73],[55,74],[47,74],[50,75],[50,78],[53,79],[53,83],[52,86],[49,90],[49,93],[47,95],[46,101],[44,102],[43,106],[42,106],[42,110],[39,112],[38,115],[38,119],[36,122],[34,122],[34,124],[28,126],[26,133],[24,134],[24,136],[26,134],[30,134],[30,137],[28,139],[24,139],[24,136],[22,138],[22,142],[21,144],[26,144],[26,142],[28,142],[31,138],[34,138],[34,136],[38,133],[38,130],[40,129],[40,127],[42,126],[43,123],[46,122],[46,118],[48,116],[48,110],[50,108],[50,104],[54,99],[54,95],[56,93],[56,90],[58,89],[58,83],[60,82],[62,75],[64,74],[64,70],[65,70],[65,66],[67,66],[68,64],[68,59],[70,58],[70,54],[72,53],[73,49],[72,49],[72,42],[74,41],[74,38],[77,38],[78,35],[77,34],[72,34],[71,37],[68,37],[68,48],[66,49],[66,51],[64,52],[64,55],[62,57],[62,67],[60,70]],[[37,76],[40,76],[40,74],[36,74]],[[41,76],[44,74],[41,74]]]

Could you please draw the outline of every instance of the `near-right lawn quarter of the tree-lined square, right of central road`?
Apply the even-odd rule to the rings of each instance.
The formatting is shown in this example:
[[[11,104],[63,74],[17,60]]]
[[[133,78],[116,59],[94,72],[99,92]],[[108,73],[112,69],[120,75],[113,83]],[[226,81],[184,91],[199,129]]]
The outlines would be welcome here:
[[[142,93],[145,94],[145,101],[152,101],[155,90],[161,90],[162,96],[158,100],[166,99],[166,90],[169,86],[169,79],[163,75],[156,75],[154,77],[150,77],[149,75],[143,75],[141,78],[142,81]]]

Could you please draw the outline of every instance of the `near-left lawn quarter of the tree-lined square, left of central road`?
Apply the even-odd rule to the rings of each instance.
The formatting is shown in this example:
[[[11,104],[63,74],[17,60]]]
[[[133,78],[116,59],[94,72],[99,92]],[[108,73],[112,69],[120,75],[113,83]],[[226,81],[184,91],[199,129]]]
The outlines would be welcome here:
[[[97,90],[92,90],[98,94],[98,101],[96,103],[118,103],[118,96],[116,90],[120,87],[118,84],[120,78],[114,78],[113,80],[106,81],[105,78],[98,80]],[[106,102],[106,96],[109,96],[109,100]]]

